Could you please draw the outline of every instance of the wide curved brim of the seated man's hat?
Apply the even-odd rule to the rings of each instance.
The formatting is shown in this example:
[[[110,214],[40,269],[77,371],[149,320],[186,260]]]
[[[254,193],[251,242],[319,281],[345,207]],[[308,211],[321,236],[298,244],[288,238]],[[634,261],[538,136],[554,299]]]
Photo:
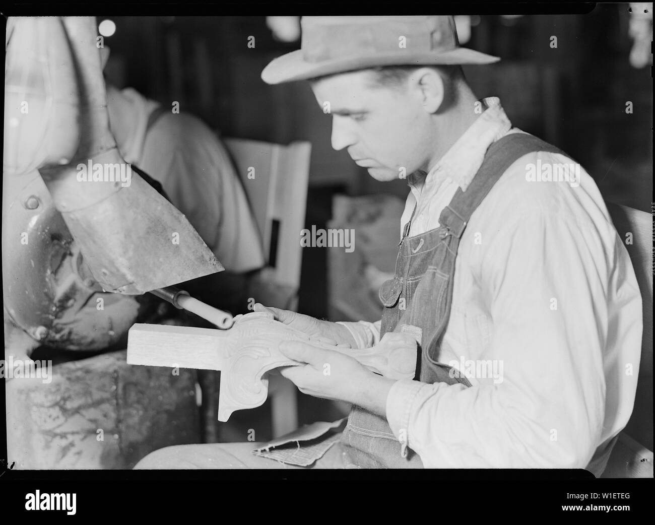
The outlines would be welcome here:
[[[455,64],[485,64],[498,62],[497,56],[487,55],[479,51],[458,47],[440,53],[423,52],[408,54],[407,52],[392,52],[371,56],[353,56],[336,58],[322,62],[307,62],[303,51],[297,50],[284,54],[267,65],[261,72],[261,79],[267,84],[314,79],[334,73],[346,73],[368,67],[384,65],[455,65]]]

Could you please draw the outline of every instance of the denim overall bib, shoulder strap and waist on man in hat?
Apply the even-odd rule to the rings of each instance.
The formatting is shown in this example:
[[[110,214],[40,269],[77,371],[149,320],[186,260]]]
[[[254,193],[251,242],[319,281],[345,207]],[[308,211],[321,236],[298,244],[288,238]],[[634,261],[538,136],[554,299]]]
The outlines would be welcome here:
[[[414,213],[403,230],[396,274],[380,288],[384,304],[381,334],[405,332],[419,341],[415,380],[424,383],[471,384],[440,363],[441,339],[448,323],[453,296],[457,248],[466,224],[500,176],[521,156],[535,151],[563,153],[523,133],[506,135],[493,143],[465,192],[460,188],[440,215],[440,226],[409,237]],[[406,432],[406,430],[405,430]],[[422,467],[421,458],[400,443],[384,416],[353,406],[341,437],[352,465],[362,468]]]

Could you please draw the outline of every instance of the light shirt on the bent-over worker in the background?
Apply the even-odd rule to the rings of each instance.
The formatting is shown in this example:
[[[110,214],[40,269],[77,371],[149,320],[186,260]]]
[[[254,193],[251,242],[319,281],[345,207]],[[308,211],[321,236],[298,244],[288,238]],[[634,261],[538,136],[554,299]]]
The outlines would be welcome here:
[[[161,183],[226,270],[265,264],[261,240],[240,179],[225,146],[202,120],[162,111],[136,90],[107,86],[111,130],[119,151]]]

